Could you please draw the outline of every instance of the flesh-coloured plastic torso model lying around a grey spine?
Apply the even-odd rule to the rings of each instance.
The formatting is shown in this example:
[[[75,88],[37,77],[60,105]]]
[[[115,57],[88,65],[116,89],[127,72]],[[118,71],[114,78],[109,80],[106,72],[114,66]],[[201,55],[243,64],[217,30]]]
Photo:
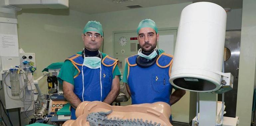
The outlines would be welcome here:
[[[87,121],[88,115],[97,112],[108,113],[105,119],[111,120],[110,122],[114,122],[112,120],[121,120],[119,122],[132,121],[135,124],[137,122],[146,125],[151,124],[152,126],[172,126],[169,121],[171,107],[165,102],[111,106],[100,101],[83,101],[80,103],[75,111],[77,119],[68,120],[63,126],[90,126],[90,122]]]

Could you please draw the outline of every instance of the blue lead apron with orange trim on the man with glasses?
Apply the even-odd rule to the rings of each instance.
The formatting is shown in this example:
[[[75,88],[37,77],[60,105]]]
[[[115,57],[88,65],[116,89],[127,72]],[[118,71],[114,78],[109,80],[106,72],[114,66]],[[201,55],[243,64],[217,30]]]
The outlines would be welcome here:
[[[102,83],[102,96],[100,88],[100,68],[90,69],[83,66],[84,85],[82,85],[82,64],[83,57],[75,54],[66,60],[70,60],[75,68],[78,70],[74,76],[74,93],[81,101],[103,101],[108,93],[111,91],[112,74],[117,65],[118,60],[106,56],[101,61],[101,83]],[[84,93],[83,92],[84,86]],[[82,98],[83,94],[83,98]],[[71,107],[71,119],[76,119],[75,109]]]

